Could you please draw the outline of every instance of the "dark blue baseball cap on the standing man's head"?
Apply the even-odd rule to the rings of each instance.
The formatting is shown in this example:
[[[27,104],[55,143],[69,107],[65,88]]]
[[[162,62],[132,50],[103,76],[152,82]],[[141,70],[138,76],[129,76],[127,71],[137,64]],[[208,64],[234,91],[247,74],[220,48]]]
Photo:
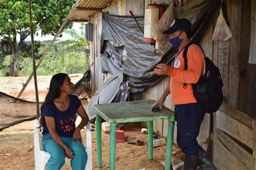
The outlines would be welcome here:
[[[174,19],[174,21],[171,23],[169,29],[165,30],[164,34],[171,34],[173,32],[176,32],[178,30],[182,30],[186,32],[188,36],[191,35],[191,22],[188,21],[186,18],[182,19]]]

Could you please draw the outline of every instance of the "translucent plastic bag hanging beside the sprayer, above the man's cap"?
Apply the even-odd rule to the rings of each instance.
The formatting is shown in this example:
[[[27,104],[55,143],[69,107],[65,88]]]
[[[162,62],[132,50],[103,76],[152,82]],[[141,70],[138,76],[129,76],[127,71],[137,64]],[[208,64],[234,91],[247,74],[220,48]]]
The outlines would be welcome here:
[[[152,35],[156,40],[156,49],[161,54],[164,54],[171,46],[168,42],[168,37],[163,34],[163,31],[167,30],[174,20],[174,6],[173,3],[165,10],[163,16],[152,28]]]

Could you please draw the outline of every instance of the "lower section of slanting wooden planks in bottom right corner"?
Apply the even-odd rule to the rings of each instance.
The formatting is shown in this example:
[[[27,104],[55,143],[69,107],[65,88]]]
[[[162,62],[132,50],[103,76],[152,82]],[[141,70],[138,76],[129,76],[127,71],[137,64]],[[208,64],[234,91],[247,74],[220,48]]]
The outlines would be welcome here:
[[[225,103],[215,118],[213,162],[216,168],[255,169],[255,119]]]

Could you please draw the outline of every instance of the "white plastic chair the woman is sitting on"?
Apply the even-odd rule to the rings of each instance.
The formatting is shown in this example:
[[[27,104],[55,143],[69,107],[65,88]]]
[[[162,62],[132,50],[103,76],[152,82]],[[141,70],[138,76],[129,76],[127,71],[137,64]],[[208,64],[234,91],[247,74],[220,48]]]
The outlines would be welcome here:
[[[50,159],[50,154],[48,152],[42,151],[40,149],[40,144],[39,144],[39,127],[43,121],[43,117],[39,117],[37,124],[36,124],[36,129],[35,129],[35,134],[34,134],[34,147],[35,147],[35,168],[36,170],[43,170],[45,167],[45,164],[48,162],[48,159]],[[87,164],[85,169],[86,170],[91,170],[92,169],[92,145],[91,145],[91,129],[90,125],[87,124],[86,126],[86,152],[88,156]],[[65,160],[71,160],[68,159],[68,157],[65,158]]]

